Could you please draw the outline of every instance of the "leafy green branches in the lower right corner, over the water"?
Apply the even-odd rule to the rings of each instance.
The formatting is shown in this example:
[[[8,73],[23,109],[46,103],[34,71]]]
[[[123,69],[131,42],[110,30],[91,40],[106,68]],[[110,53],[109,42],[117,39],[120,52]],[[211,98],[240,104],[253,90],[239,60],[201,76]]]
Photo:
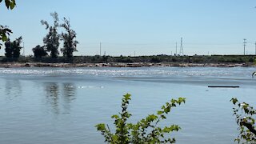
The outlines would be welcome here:
[[[233,110],[236,117],[236,122],[239,126],[238,130],[240,131],[238,138],[236,138],[234,141],[238,143],[256,143],[256,110],[254,110],[254,107],[250,106],[246,102],[238,102],[237,98],[232,98],[230,101],[235,105]]]

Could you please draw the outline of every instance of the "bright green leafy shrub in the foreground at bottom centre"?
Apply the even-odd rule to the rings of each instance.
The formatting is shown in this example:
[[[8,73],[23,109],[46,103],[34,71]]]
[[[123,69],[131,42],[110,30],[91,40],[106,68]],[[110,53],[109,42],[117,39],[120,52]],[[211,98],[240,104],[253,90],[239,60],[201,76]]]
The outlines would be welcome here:
[[[185,98],[172,99],[170,102],[166,102],[165,106],[162,106],[162,110],[159,110],[157,114],[150,114],[146,118],[143,118],[137,123],[128,123],[127,120],[131,114],[127,111],[130,94],[126,94],[122,98],[122,112],[118,115],[113,115],[114,125],[116,127],[115,133],[111,133],[108,125],[100,123],[97,126],[98,131],[102,132],[105,137],[105,142],[108,143],[174,143],[175,138],[166,138],[166,134],[170,134],[173,131],[178,131],[181,128],[178,125],[165,126],[161,128],[158,123],[166,119],[166,114],[177,105],[185,103]],[[106,127],[107,126],[107,127]]]

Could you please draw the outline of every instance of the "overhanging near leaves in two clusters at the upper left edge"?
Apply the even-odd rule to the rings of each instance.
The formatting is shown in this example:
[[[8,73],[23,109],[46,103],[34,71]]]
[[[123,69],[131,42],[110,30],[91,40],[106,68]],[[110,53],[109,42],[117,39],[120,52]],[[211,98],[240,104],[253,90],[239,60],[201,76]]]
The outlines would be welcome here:
[[[1,2],[2,0],[0,0],[0,3]],[[5,0],[5,3],[6,3],[6,8],[10,10],[13,10],[14,7],[16,6],[15,0]],[[12,31],[8,29],[7,26],[0,25],[0,41],[6,42],[8,40],[7,36],[9,36],[10,33],[12,33]],[[2,44],[0,43],[0,48],[1,46]]]

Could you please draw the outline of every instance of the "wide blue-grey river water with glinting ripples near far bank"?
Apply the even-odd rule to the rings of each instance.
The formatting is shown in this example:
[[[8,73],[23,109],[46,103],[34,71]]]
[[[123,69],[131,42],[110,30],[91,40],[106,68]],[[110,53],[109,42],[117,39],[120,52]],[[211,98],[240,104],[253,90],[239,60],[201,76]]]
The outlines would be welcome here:
[[[234,143],[230,98],[255,106],[256,68],[0,69],[0,143],[103,143],[94,126],[113,123],[123,94],[135,122],[185,97],[161,125],[178,124],[177,143]],[[241,86],[210,89],[207,86]]]

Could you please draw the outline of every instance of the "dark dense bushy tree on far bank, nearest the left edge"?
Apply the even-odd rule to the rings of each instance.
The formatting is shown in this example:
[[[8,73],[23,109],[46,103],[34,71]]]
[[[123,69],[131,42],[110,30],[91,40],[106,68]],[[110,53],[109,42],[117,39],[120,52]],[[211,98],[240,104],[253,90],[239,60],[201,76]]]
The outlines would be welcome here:
[[[5,43],[6,58],[19,58],[20,51],[22,49],[22,46],[20,46],[21,43],[22,43],[22,37],[17,38],[16,40],[14,40],[14,42],[10,42],[10,40],[8,40]]]

